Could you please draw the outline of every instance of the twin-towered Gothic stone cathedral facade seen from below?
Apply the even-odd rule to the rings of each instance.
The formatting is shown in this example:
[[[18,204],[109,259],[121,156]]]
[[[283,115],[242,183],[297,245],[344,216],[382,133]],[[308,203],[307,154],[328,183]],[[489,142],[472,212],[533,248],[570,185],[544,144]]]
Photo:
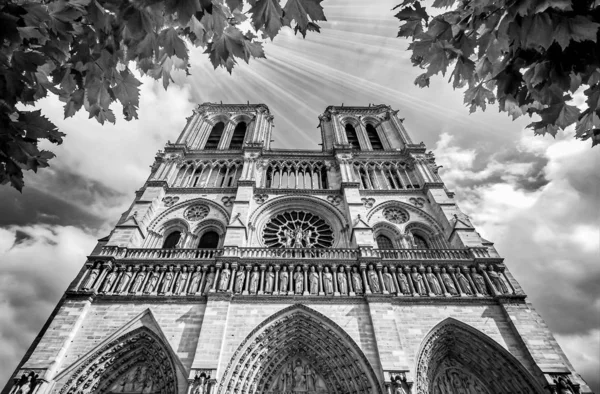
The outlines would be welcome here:
[[[198,105],[2,393],[591,393],[397,112]]]

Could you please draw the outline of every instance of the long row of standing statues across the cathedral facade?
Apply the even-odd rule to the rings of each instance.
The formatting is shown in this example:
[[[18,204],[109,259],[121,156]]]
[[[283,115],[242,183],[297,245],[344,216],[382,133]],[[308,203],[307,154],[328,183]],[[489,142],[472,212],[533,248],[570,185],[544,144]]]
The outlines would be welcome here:
[[[196,295],[209,292],[276,295],[398,294],[414,296],[474,296],[510,294],[502,272],[493,266],[441,269],[435,267],[247,265],[225,263],[188,270],[146,266],[103,267],[96,263],[80,287],[104,294]]]

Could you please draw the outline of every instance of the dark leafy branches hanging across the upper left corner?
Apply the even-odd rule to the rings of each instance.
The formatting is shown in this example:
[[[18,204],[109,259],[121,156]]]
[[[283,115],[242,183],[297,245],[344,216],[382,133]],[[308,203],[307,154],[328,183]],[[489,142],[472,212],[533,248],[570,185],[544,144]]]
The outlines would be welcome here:
[[[21,190],[23,170],[47,167],[54,154],[40,150],[63,133],[41,111],[25,105],[57,95],[65,117],[82,107],[98,122],[137,118],[140,81],[188,70],[186,43],[205,48],[215,68],[229,72],[236,58],[265,57],[261,38],[242,32],[250,15],[257,34],[273,39],[284,26],[303,36],[325,20],[322,0],[8,0],[0,3],[0,183]],[[132,63],[133,62],[133,63]]]

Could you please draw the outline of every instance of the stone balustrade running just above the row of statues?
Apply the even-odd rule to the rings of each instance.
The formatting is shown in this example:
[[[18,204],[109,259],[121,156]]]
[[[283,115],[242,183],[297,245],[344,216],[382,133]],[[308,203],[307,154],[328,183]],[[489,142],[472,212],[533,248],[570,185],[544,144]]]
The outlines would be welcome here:
[[[407,261],[473,261],[492,258],[486,248],[468,249],[372,249],[372,248],[250,248],[224,249],[151,249],[104,246],[96,256],[127,260],[212,260],[216,257],[285,260],[356,260],[375,258]]]

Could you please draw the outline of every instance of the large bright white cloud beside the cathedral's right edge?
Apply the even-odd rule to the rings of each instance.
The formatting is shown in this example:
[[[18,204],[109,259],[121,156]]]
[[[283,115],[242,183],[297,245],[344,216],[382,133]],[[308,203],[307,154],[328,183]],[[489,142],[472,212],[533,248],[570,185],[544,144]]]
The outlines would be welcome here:
[[[512,152],[486,155],[448,134],[435,148],[461,209],[495,242],[567,356],[597,387],[597,369],[591,371],[600,353],[586,345],[598,334],[600,316],[596,153],[568,133],[552,141],[533,140],[528,131]],[[486,159],[478,167],[480,155]]]

